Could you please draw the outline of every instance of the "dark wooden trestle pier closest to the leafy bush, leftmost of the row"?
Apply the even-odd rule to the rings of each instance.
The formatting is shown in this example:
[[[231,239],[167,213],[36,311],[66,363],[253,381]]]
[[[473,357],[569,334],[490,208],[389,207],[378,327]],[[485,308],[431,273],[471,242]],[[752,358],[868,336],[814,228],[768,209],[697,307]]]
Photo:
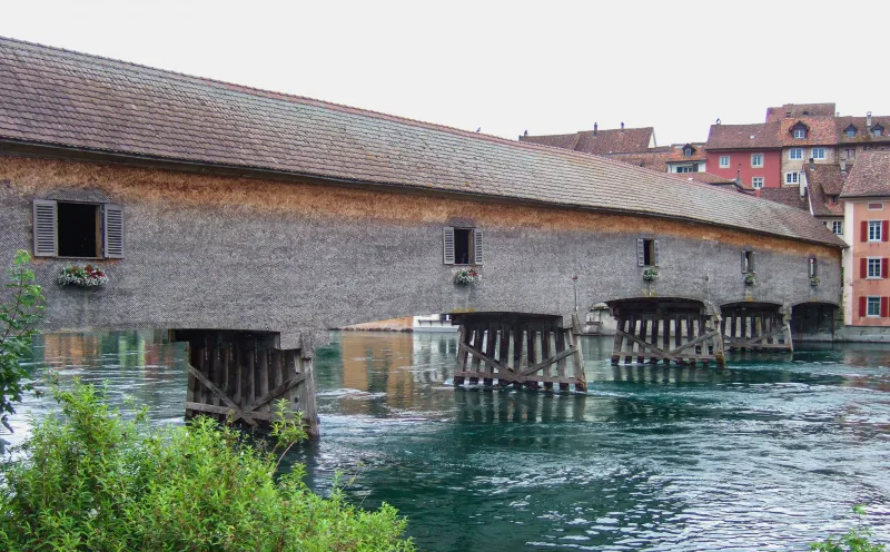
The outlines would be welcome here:
[[[208,415],[220,422],[267,427],[275,403],[301,413],[309,436],[318,436],[312,348],[281,351],[278,334],[175,329],[188,343],[186,418]]]

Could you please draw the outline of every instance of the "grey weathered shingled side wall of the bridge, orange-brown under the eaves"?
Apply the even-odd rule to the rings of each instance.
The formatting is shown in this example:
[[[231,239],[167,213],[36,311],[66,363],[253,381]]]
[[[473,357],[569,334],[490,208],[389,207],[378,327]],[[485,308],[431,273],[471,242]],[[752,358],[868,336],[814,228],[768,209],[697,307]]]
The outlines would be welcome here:
[[[715,304],[838,303],[840,252],[704,224],[476,200],[394,188],[335,186],[0,156],[0,252],[31,249],[31,201],[111,201],[125,208],[125,258],[99,260],[100,290],[60,288],[59,268],[38,259],[46,331],[230,328],[301,332],[435,312],[568,315],[577,275],[582,309],[654,294]],[[453,284],[442,228],[484,230],[482,283]],[[637,237],[660,244],[649,286]],[[740,252],[758,252],[746,287]],[[810,286],[808,258],[821,284]],[[82,263],[82,262],[79,262]],[[708,279],[705,280],[705,277]]]

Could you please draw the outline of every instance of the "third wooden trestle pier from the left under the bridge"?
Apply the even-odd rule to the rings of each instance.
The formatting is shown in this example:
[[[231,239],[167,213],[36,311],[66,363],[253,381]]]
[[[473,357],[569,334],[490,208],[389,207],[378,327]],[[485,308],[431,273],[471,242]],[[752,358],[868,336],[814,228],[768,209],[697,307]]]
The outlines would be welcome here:
[[[612,364],[671,362],[725,366],[720,312],[699,302],[642,299],[612,306]]]

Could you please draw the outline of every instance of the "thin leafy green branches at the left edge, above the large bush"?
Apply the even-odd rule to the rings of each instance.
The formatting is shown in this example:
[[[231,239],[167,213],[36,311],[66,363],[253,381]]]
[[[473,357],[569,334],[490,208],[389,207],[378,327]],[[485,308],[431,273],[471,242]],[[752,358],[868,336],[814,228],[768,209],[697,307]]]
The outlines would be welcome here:
[[[0,423],[9,431],[8,416],[16,413],[12,403],[31,388],[22,383],[27,374],[19,361],[31,352],[31,337],[43,310],[43,294],[28,268],[30,262],[28,252],[16,252],[6,285],[9,299],[0,304]]]

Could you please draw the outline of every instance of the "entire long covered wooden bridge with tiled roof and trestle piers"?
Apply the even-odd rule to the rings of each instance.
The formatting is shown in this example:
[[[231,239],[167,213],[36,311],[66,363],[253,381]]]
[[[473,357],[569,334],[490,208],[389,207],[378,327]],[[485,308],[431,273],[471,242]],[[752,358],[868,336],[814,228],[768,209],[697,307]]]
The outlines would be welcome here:
[[[681,177],[11,39],[0,224],[7,260],[37,257],[46,332],[169,328],[190,411],[257,422],[284,396],[313,428],[327,328],[461,314],[455,381],[584,388],[574,313],[613,305],[621,359],[710,362],[721,327],[782,337],[724,305],[833,308],[843,247]],[[86,263],[105,286],[56,283]]]

